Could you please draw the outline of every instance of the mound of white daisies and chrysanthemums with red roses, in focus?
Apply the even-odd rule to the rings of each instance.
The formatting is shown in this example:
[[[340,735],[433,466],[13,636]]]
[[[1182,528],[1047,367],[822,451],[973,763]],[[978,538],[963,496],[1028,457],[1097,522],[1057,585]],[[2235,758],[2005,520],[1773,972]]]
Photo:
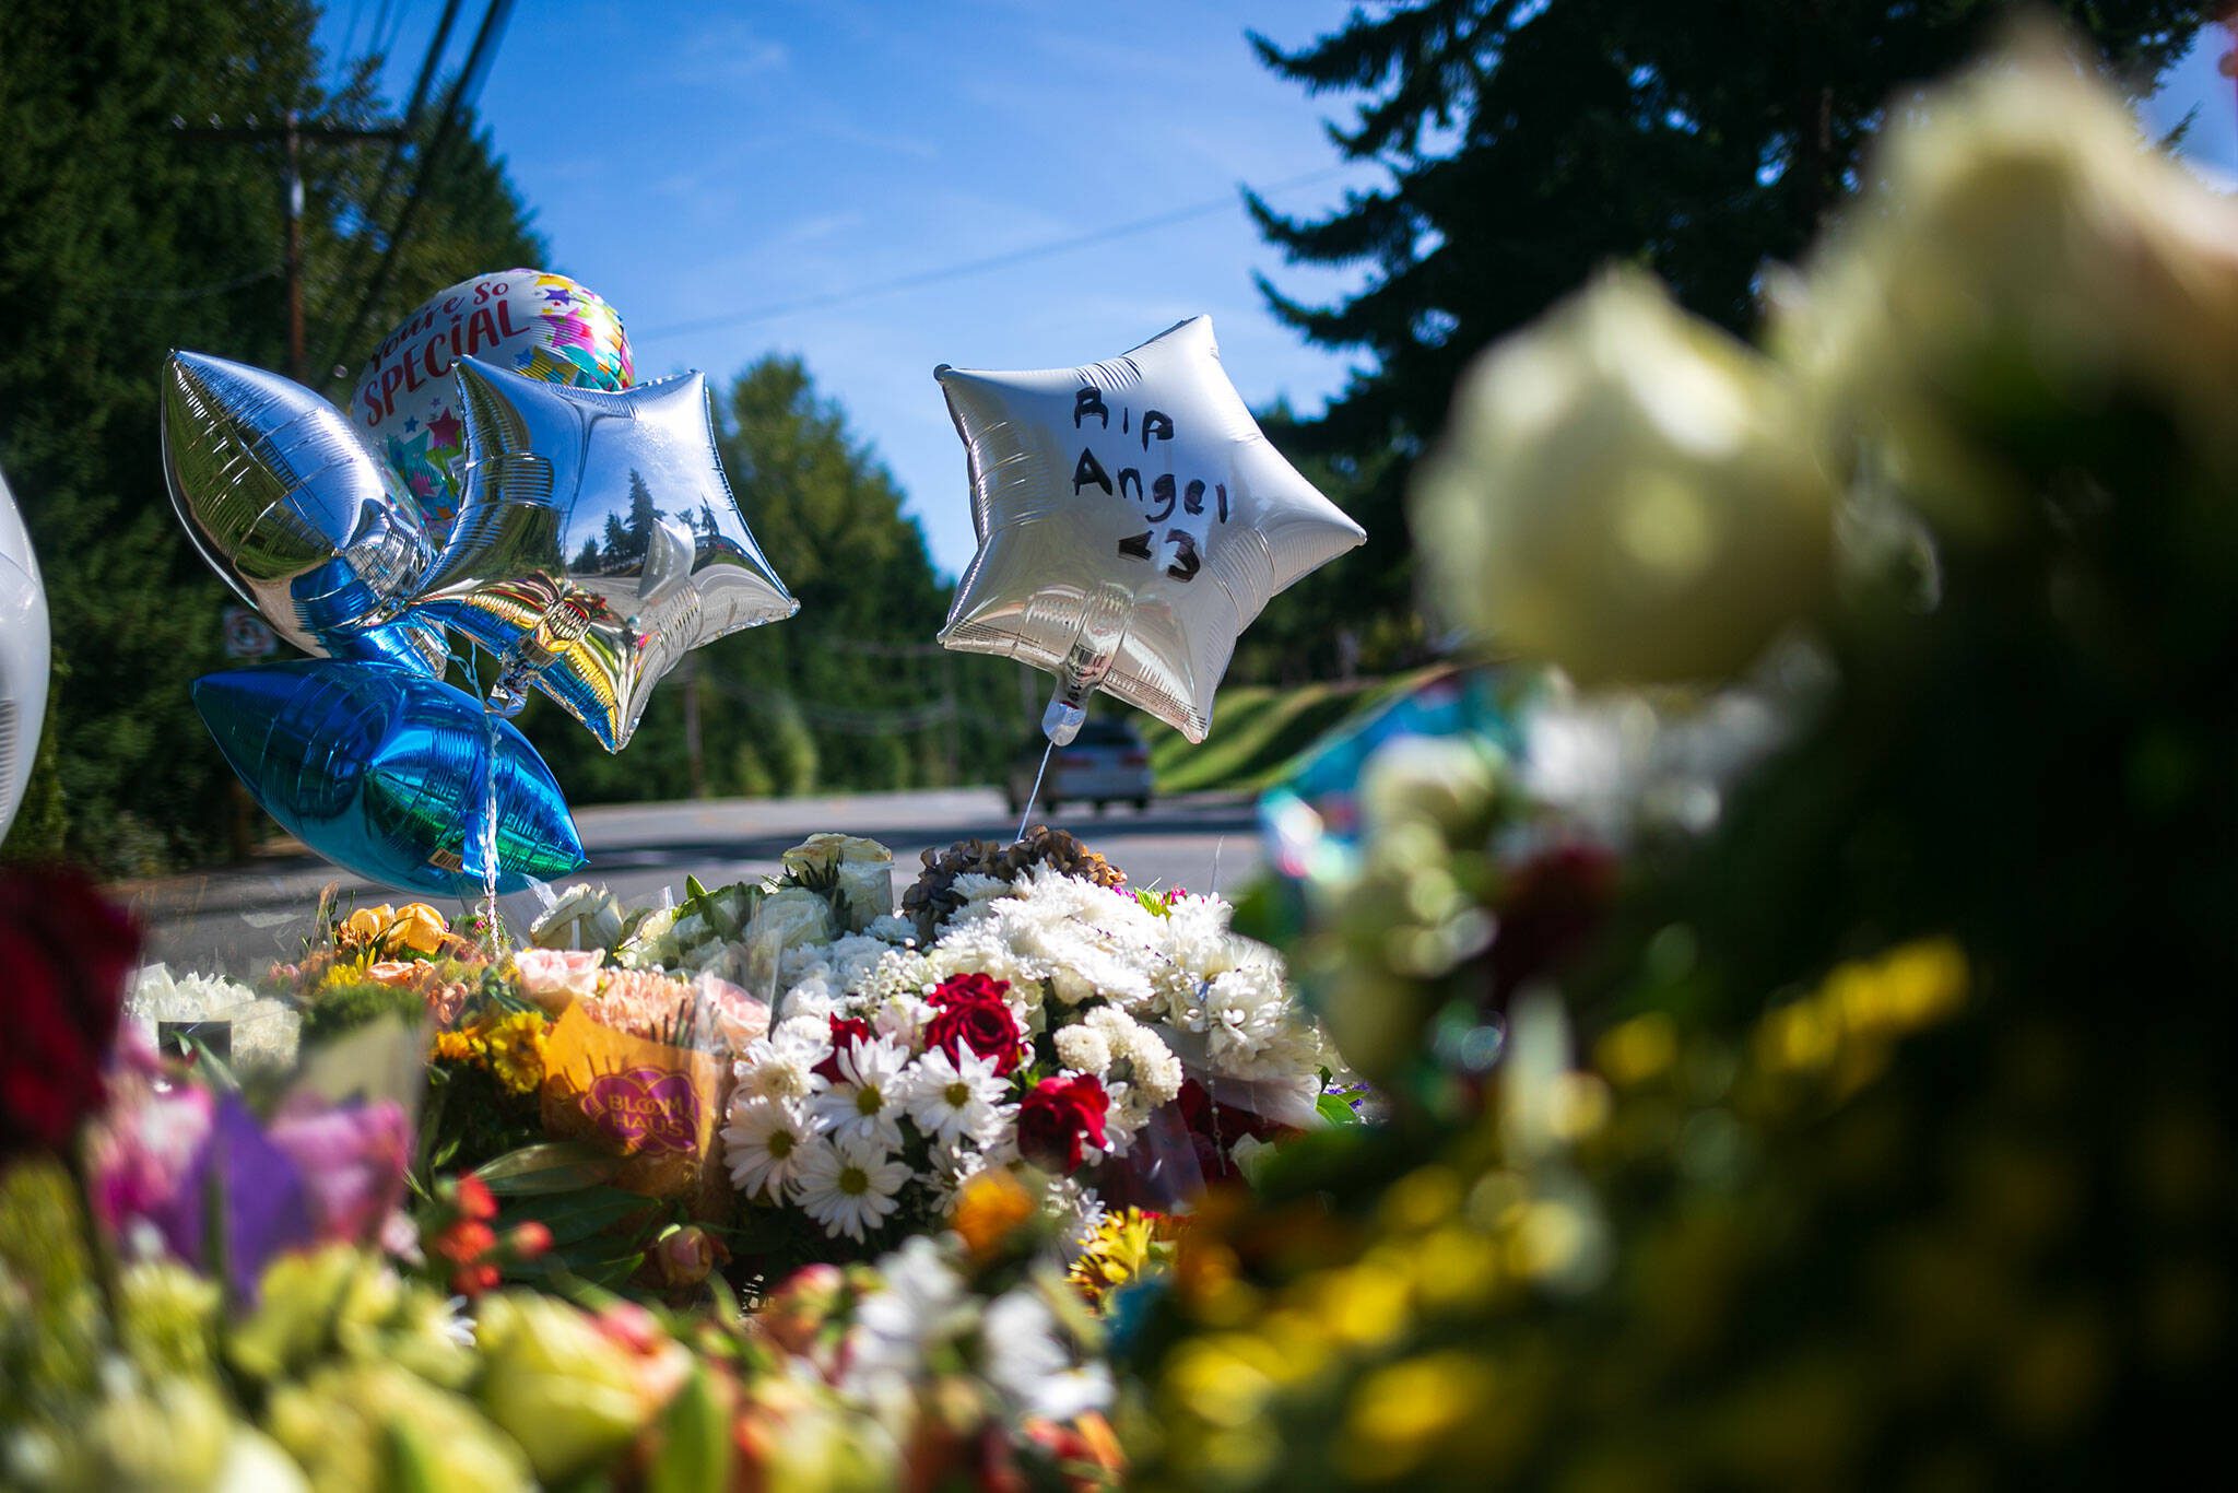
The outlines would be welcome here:
[[[1085,1240],[1108,1198],[1191,1198],[1235,1146],[1320,1124],[1334,1059],[1220,898],[1041,864],[956,891],[929,945],[790,951],[777,1021],[736,1063],[732,1177],[806,1215],[803,1247],[935,1229],[985,1168],[1050,1175]]]

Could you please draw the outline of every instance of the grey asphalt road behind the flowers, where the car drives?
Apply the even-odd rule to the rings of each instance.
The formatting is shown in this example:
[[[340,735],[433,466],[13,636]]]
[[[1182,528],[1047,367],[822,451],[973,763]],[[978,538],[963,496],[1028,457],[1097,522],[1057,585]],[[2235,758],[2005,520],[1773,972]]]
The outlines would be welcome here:
[[[1036,817],[1038,819],[1038,817]],[[1249,797],[1184,795],[1148,813],[1092,815],[1063,808],[1056,828],[1101,851],[1141,884],[1238,886],[1260,866],[1258,821]],[[927,848],[953,839],[1009,839],[1018,828],[994,788],[864,792],[810,799],[716,799],[700,804],[613,804],[575,813],[589,862],[577,880],[604,882],[622,902],[653,902],[685,875],[707,886],[777,871],[777,857],[817,830],[868,835],[893,848],[895,898]],[[351,877],[304,851],[266,855],[248,866],[132,882],[114,891],[150,931],[148,960],[251,978],[302,949],[322,886],[356,902],[396,902],[398,893]],[[506,922],[537,913],[530,891],[501,902]],[[450,911],[448,907],[443,911]]]

